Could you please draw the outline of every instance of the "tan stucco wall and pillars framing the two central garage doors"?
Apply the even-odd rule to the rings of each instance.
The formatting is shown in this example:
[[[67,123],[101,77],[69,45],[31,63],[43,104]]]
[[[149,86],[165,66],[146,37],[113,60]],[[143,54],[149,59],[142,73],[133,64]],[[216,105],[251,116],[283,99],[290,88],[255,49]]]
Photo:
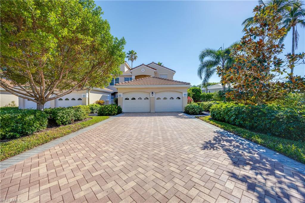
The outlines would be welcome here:
[[[184,111],[184,107],[187,105],[187,97],[183,97],[182,93],[187,92],[188,87],[131,87],[131,88],[118,88],[118,93],[124,93],[126,92],[132,92],[132,91],[140,91],[140,92],[153,92],[154,95],[157,92],[162,92],[162,91],[177,91],[181,92],[181,97],[182,97],[182,109]],[[153,98],[153,99],[152,99]],[[118,105],[123,108],[123,98],[120,97],[118,98]],[[151,97],[150,99],[150,112],[155,112],[155,98]]]

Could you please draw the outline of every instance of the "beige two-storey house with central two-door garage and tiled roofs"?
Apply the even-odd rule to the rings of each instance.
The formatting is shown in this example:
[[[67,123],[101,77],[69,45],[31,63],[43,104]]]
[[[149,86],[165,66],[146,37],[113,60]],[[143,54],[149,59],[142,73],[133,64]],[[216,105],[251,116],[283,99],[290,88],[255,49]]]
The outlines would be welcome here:
[[[190,83],[173,80],[176,71],[152,62],[126,72],[131,80],[114,84],[123,112],[184,111]]]

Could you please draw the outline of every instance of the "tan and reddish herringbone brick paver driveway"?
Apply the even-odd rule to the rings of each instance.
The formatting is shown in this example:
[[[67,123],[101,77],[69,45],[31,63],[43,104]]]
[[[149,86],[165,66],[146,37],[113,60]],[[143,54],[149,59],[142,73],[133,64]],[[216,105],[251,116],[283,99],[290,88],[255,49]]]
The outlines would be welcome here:
[[[0,186],[21,202],[304,202],[304,185],[303,173],[199,119],[138,113],[2,170]]]

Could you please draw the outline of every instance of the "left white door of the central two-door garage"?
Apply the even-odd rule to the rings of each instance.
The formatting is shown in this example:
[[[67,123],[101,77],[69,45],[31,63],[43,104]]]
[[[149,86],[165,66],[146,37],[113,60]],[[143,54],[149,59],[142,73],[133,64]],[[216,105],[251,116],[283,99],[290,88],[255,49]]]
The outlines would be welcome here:
[[[147,92],[123,94],[123,112],[150,112],[150,97]]]

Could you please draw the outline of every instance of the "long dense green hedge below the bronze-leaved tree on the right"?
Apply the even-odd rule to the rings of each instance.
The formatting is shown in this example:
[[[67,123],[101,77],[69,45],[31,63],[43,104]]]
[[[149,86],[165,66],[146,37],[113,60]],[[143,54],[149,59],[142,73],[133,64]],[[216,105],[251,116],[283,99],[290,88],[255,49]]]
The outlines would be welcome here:
[[[305,117],[295,109],[228,102],[213,105],[210,112],[214,120],[268,135],[305,141]]]

